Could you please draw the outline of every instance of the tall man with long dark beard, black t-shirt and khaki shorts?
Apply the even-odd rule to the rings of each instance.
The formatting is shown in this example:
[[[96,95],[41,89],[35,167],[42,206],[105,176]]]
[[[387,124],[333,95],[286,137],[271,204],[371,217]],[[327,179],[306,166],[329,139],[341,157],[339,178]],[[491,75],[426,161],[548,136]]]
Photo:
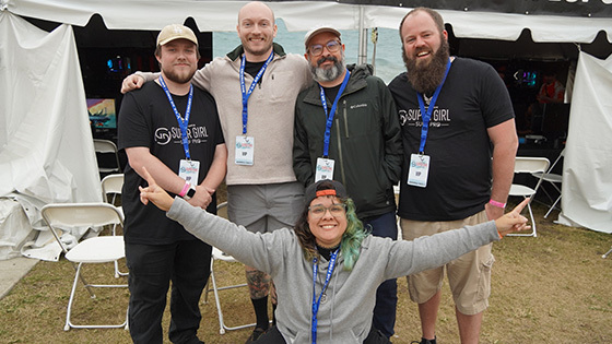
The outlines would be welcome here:
[[[496,220],[504,213],[518,147],[508,91],[491,66],[449,57],[448,33],[434,10],[409,12],[400,38],[407,72],[389,90],[404,152],[398,210],[403,238]],[[410,297],[419,304],[420,343],[436,343],[445,269],[461,343],[478,343],[493,261],[490,245],[408,277]]]

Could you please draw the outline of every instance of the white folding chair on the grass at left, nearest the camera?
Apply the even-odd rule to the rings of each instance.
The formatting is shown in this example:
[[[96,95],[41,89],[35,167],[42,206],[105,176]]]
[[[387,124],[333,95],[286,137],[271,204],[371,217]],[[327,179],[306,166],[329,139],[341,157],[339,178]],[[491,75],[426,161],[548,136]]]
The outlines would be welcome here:
[[[109,329],[128,328],[128,313],[126,320],[119,324],[74,324],[71,320],[72,306],[79,280],[83,283],[92,298],[95,294],[92,288],[128,287],[127,284],[89,284],[81,273],[83,264],[111,263],[126,257],[122,236],[98,236],[79,242],[68,250],[60,239],[60,228],[69,227],[99,227],[106,225],[123,224],[121,213],[108,203],[56,203],[47,204],[40,210],[43,218],[49,226],[51,234],[61,247],[66,259],[74,268],[74,282],[68,300],[64,331],[73,329]]]

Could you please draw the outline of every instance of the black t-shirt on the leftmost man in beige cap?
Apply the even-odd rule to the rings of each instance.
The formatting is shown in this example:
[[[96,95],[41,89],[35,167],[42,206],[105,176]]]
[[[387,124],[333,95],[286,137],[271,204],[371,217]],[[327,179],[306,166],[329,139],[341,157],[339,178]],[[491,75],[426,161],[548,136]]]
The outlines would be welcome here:
[[[175,96],[177,110],[185,116],[188,95]],[[118,123],[120,150],[148,147],[169,169],[178,175],[180,159],[186,158],[178,121],[162,86],[145,83],[142,88],[123,96]],[[200,162],[198,183],[201,183],[212,164],[217,144],[224,143],[223,133],[213,97],[205,91],[193,88],[191,115],[187,135],[192,161]],[[166,217],[154,204],[140,202],[139,186],[145,186],[128,164],[121,194],[126,215],[125,239],[127,242],[165,245],[177,240],[195,239],[183,226]],[[174,195],[174,194],[173,194]],[[216,201],[207,211],[215,213]]]

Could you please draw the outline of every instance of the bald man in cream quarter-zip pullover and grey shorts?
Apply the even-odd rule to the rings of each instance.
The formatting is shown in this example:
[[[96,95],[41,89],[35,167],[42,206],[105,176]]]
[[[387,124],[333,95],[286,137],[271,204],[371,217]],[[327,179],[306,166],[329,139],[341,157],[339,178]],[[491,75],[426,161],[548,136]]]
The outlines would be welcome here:
[[[242,44],[198,70],[192,83],[215,98],[227,144],[227,213],[250,232],[293,226],[304,187],[293,171],[293,122],[297,94],[313,81],[308,62],[273,43],[274,13],[252,1],[238,12]],[[140,78],[139,78],[140,76]],[[121,92],[140,87],[153,73],[126,78]],[[246,102],[243,102],[246,99]],[[257,324],[247,343],[269,327],[270,276],[245,266]],[[275,307],[275,295],[272,305]]]

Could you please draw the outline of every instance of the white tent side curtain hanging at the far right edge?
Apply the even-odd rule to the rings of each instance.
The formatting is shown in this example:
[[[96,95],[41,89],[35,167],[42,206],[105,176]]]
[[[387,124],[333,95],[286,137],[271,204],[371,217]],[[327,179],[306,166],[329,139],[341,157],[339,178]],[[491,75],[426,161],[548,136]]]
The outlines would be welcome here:
[[[612,56],[580,52],[573,99],[558,223],[612,233]]]

